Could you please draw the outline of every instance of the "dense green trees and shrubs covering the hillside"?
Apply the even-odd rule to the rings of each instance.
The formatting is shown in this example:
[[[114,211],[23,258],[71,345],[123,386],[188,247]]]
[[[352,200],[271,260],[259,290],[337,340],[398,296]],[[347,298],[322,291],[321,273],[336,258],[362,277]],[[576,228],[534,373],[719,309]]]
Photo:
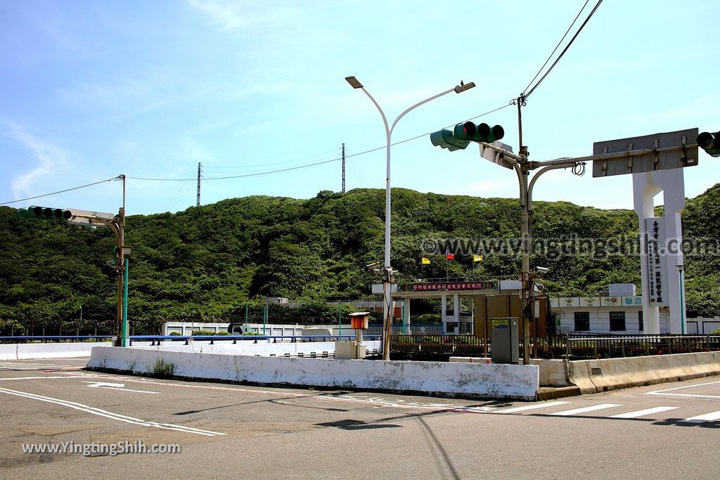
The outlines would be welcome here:
[[[400,281],[462,277],[514,278],[519,256],[483,253],[472,262],[477,243],[445,259],[444,239],[518,237],[518,202],[471,196],[393,190],[392,258]],[[262,317],[256,296],[284,296],[308,302],[304,312],[272,307],[274,321],[337,318],[328,300],[369,299],[375,281],[364,266],[382,258],[384,191],[321,191],[313,199],[269,196],[228,199],[176,214],[127,217],[130,263],[129,317],[135,332],[155,332],[166,320]],[[718,237],[720,186],[688,200],[685,237]],[[621,239],[637,235],[629,210],[600,210],[567,202],[536,202],[534,237],[554,239],[554,250],[539,252],[534,265],[547,266],[544,283],[564,294],[601,292],[610,283],[639,286],[639,256],[604,255],[602,245],[582,254],[557,253],[557,239]],[[550,245],[553,245],[550,242]],[[540,244],[540,243],[539,243]],[[433,247],[435,251],[428,251]],[[60,221],[32,221],[0,207],[0,332],[21,325],[36,333],[112,325],[116,281],[114,236],[88,232]],[[469,251],[475,248],[476,251]],[[421,266],[420,258],[431,260]],[[690,314],[718,315],[720,260],[717,255],[685,258]],[[79,323],[82,309],[83,322]],[[418,312],[424,313],[424,312]],[[294,315],[294,317],[290,317]],[[110,330],[104,330],[110,331]]]

